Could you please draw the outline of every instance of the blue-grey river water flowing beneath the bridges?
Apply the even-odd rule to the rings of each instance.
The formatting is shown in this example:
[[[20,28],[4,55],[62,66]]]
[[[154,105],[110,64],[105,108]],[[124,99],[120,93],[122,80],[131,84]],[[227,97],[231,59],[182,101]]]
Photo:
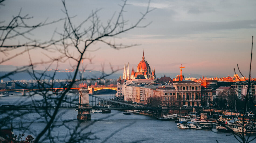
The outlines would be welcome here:
[[[98,96],[109,97],[109,95]],[[37,95],[34,98],[40,99],[40,96]],[[29,102],[29,99],[14,94],[9,97],[1,97],[0,104],[17,104],[17,101],[22,100]],[[60,110],[56,125],[65,121],[68,127],[75,127],[79,124],[76,118],[77,111]],[[92,121],[82,122],[79,125],[80,128],[88,127],[83,133],[91,132],[93,134],[90,137],[97,138],[88,142],[216,142],[216,140],[218,142],[238,142],[230,133],[215,133],[216,129],[178,129],[177,123],[174,121],[159,121],[153,117],[138,114],[123,115],[122,111],[117,110],[112,110],[111,114],[91,113],[91,118]],[[23,126],[31,123],[29,129],[21,130],[18,127],[20,121]],[[23,118],[15,118],[12,124],[15,127],[14,134],[24,131],[26,135],[32,134],[33,136],[39,134],[46,125],[44,118],[40,118],[37,113],[26,114]],[[51,136],[58,136],[58,138],[53,138],[56,142],[68,141],[69,131],[64,126],[56,127],[51,132]]]

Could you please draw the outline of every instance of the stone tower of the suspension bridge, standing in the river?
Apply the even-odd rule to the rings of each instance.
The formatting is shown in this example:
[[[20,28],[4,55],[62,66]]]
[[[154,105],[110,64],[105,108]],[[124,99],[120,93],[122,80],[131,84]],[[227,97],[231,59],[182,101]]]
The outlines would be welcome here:
[[[89,105],[89,90],[88,88],[80,88],[77,119],[90,121],[91,120],[90,110],[91,108]]]

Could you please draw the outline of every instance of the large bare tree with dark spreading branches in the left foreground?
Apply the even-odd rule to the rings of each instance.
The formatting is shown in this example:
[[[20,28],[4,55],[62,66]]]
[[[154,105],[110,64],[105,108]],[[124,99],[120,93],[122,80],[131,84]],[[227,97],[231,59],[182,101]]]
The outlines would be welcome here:
[[[0,1],[0,4],[3,6],[4,0]],[[148,2],[148,6],[144,12],[141,12],[141,17],[134,23],[131,24],[124,17],[123,13],[126,12],[125,8],[127,7],[127,0],[123,1],[123,4],[120,5],[120,11],[117,14],[113,14],[113,16],[104,24],[101,22],[98,12],[101,9],[92,11],[92,13],[81,23],[73,23],[72,20],[75,18],[74,16],[70,16],[68,13],[68,9],[66,7],[66,3],[62,1],[64,9],[62,10],[65,14],[65,18],[60,18],[56,21],[51,22],[39,22],[36,25],[30,25],[27,20],[31,20],[33,17],[29,17],[28,15],[22,16],[21,10],[17,16],[14,16],[12,20],[5,25],[5,21],[0,22],[2,24],[0,26],[1,36],[0,36],[0,52],[4,54],[6,57],[2,58],[0,64],[5,63],[17,56],[22,55],[23,53],[27,53],[29,56],[30,64],[19,67],[18,69],[9,72],[8,74],[0,77],[11,79],[11,75],[27,72],[30,74],[31,78],[36,81],[36,84],[32,88],[38,88],[39,90],[33,91],[30,93],[28,98],[32,100],[32,104],[36,105],[39,103],[46,104],[46,108],[44,110],[27,110],[27,111],[10,111],[10,110],[2,110],[0,116],[0,128],[5,127],[8,123],[12,123],[14,119],[20,119],[20,123],[16,128],[23,129],[24,131],[29,130],[32,134],[35,135],[34,142],[84,142],[89,140],[97,139],[94,136],[94,133],[91,131],[87,131],[88,127],[93,125],[95,121],[90,122],[89,125],[81,127],[81,123],[78,122],[75,127],[68,126],[68,123],[71,122],[69,120],[62,120],[62,123],[56,122],[61,118],[61,114],[59,108],[62,104],[67,102],[67,93],[70,91],[72,86],[77,81],[83,80],[98,80],[113,74],[119,69],[114,69],[110,65],[110,69],[112,70],[110,73],[104,72],[104,66],[102,67],[102,75],[100,77],[92,77],[92,78],[79,78],[79,67],[81,65],[82,60],[92,61],[91,57],[88,57],[86,53],[88,52],[88,48],[95,44],[96,42],[101,42],[115,49],[129,48],[132,46],[136,46],[136,44],[123,45],[122,43],[115,43],[115,37],[120,35],[121,33],[130,31],[134,28],[145,28],[151,22],[148,22],[146,25],[141,25],[141,21],[143,21],[146,15],[154,9],[149,8],[150,2]],[[51,25],[56,22],[64,22],[63,31],[54,31],[51,38],[47,41],[40,42],[40,40],[34,40],[30,35],[35,29],[44,27],[46,25]],[[131,26],[127,26],[127,25]],[[89,26],[88,26],[89,25]],[[56,36],[57,35],[57,36]],[[19,41],[15,41],[22,37],[24,40],[23,43]],[[9,44],[7,41],[15,41],[16,44]],[[12,43],[15,43],[12,42]],[[17,51],[20,49],[20,51]],[[43,50],[46,52],[54,52],[54,56],[49,56],[45,54],[47,57],[46,60],[41,62],[34,62],[30,56],[31,50]],[[95,49],[96,51],[97,49]],[[14,55],[10,53],[15,53]],[[75,65],[71,65],[73,67],[73,74],[69,75],[71,81],[62,83],[59,88],[67,88],[64,91],[58,93],[58,96],[53,96],[56,93],[53,91],[49,91],[47,88],[54,88],[53,84],[49,82],[45,82],[45,79],[49,79],[54,81],[56,79],[56,73],[58,69],[59,63],[65,63],[67,61],[75,61]],[[47,74],[47,70],[50,69],[50,66],[56,63],[56,70],[52,75]],[[35,69],[36,66],[48,65],[45,71],[39,72]],[[85,69],[82,69],[85,70]],[[21,88],[27,89],[27,86],[21,86]],[[31,88],[31,87],[29,87]],[[40,95],[42,97],[41,100],[35,100],[34,96]],[[49,105],[49,100],[53,100],[56,104],[56,108],[54,110],[49,110],[47,107]],[[19,104],[25,104],[26,101],[18,101]],[[75,102],[75,101],[73,101]],[[34,121],[31,121],[29,124],[23,124],[22,120],[24,118],[28,118],[31,114],[39,115],[36,117],[35,121],[38,119],[44,120],[45,126],[43,129],[35,134],[34,130],[32,130],[32,124]],[[63,140],[60,136],[56,134],[52,134],[55,128],[64,127],[69,130],[69,133]],[[125,128],[125,127],[124,127]],[[121,130],[118,129],[117,131]],[[113,134],[115,134],[113,132]],[[111,134],[113,136],[113,134]],[[108,137],[109,138],[109,137]],[[106,138],[103,142],[107,141]]]

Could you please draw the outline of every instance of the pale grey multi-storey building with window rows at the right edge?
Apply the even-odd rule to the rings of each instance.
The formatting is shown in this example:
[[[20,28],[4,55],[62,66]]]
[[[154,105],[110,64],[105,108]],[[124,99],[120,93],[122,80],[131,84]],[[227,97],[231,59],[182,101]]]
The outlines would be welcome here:
[[[248,97],[255,97],[256,96],[256,81],[250,81],[250,89],[248,93]],[[231,92],[232,94],[237,95],[239,99],[245,99],[245,96],[248,91],[248,81],[238,81],[231,85]]]

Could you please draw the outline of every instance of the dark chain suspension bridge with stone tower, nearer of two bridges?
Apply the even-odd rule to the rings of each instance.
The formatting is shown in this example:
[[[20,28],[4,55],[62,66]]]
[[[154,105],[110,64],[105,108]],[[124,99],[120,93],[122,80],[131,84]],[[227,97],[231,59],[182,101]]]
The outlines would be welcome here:
[[[105,99],[99,96],[90,95],[89,88],[71,88],[79,91],[79,95],[67,96],[62,99],[60,106],[60,96],[47,97],[47,100],[36,101],[33,104],[27,105],[2,105],[0,110],[56,110],[56,108],[63,109],[76,109],[78,111],[78,120],[91,120],[90,111],[92,109],[100,110],[162,110],[162,108],[151,108],[136,104],[129,104],[112,99]],[[104,89],[104,88],[102,88]],[[14,89],[15,90],[15,89]],[[38,90],[38,89],[33,89]],[[48,90],[48,89],[47,89]],[[52,90],[52,89],[49,89]],[[65,90],[64,88],[57,88],[58,91]],[[96,89],[101,90],[101,89]],[[114,90],[114,89],[113,89]],[[9,91],[13,91],[12,89]],[[17,91],[16,92],[20,92]],[[25,92],[25,89],[23,89]],[[27,89],[26,92],[29,92]]]

